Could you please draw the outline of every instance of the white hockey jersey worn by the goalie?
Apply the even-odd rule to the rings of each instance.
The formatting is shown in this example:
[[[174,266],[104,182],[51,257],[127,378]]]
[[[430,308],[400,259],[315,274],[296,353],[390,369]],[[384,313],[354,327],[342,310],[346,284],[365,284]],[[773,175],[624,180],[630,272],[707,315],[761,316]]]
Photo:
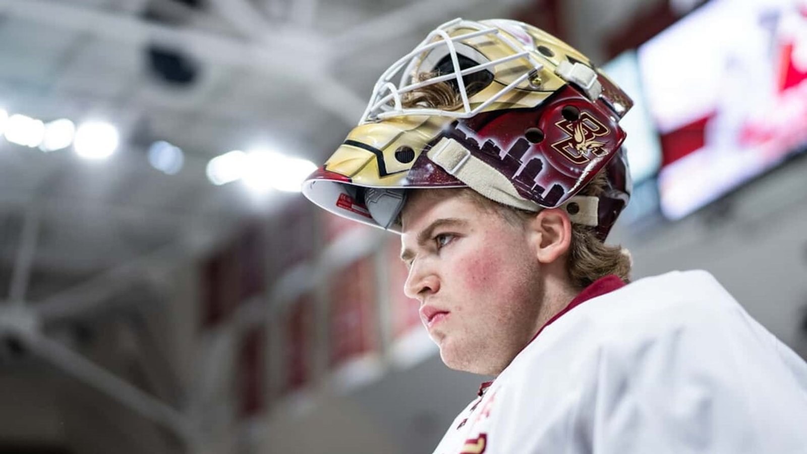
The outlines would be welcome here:
[[[596,296],[529,343],[435,454],[807,453],[807,364],[705,271]]]

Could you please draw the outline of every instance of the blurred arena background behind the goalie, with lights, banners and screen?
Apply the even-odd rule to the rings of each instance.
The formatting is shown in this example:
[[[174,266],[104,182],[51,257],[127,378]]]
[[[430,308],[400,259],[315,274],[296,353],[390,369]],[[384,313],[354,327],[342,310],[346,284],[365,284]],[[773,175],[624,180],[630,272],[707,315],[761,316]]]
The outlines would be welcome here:
[[[296,190],[459,16],[637,101],[634,279],[711,271],[807,355],[805,2],[0,0],[0,452],[431,452],[487,378]]]

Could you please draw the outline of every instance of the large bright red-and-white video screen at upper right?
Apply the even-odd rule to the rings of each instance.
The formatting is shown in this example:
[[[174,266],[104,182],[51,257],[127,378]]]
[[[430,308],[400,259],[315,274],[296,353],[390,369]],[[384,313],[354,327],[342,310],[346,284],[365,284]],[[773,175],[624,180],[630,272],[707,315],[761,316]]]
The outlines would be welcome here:
[[[712,0],[638,48],[675,220],[807,147],[807,2]]]

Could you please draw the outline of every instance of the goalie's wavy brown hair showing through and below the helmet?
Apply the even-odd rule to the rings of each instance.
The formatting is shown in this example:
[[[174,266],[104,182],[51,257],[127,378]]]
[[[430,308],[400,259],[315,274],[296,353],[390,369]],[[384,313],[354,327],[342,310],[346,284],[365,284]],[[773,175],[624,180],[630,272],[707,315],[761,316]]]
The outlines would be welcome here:
[[[420,74],[418,79],[424,81],[431,77],[433,74]],[[449,110],[462,104],[454,87],[445,82],[424,86],[420,90],[412,90],[404,96],[402,102],[407,107],[420,106]],[[600,172],[596,174],[591,183],[579,191],[578,195],[599,196],[606,187],[605,175]],[[536,215],[535,212],[489,200],[470,188],[464,188],[460,193],[479,202],[481,208],[494,208],[496,212],[504,216],[505,220],[515,225],[524,225],[525,221]],[[621,280],[629,282],[630,267],[628,250],[618,245],[604,244],[600,238],[597,238],[593,227],[580,224],[571,225],[571,244],[567,252],[566,269],[572,286],[583,289],[605,275],[617,275]]]

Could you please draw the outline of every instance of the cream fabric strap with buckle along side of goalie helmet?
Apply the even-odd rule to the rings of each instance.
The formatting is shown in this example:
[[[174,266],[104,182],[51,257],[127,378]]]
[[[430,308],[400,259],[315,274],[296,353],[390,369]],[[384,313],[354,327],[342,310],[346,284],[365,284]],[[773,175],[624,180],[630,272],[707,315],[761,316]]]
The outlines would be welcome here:
[[[427,156],[443,170],[490,200],[526,211],[538,212],[543,209],[541,205],[521,197],[507,177],[476,158],[454,139],[443,137],[429,149]],[[571,222],[596,227],[600,221],[599,206],[600,199],[595,196],[575,195],[558,208],[567,212]]]

